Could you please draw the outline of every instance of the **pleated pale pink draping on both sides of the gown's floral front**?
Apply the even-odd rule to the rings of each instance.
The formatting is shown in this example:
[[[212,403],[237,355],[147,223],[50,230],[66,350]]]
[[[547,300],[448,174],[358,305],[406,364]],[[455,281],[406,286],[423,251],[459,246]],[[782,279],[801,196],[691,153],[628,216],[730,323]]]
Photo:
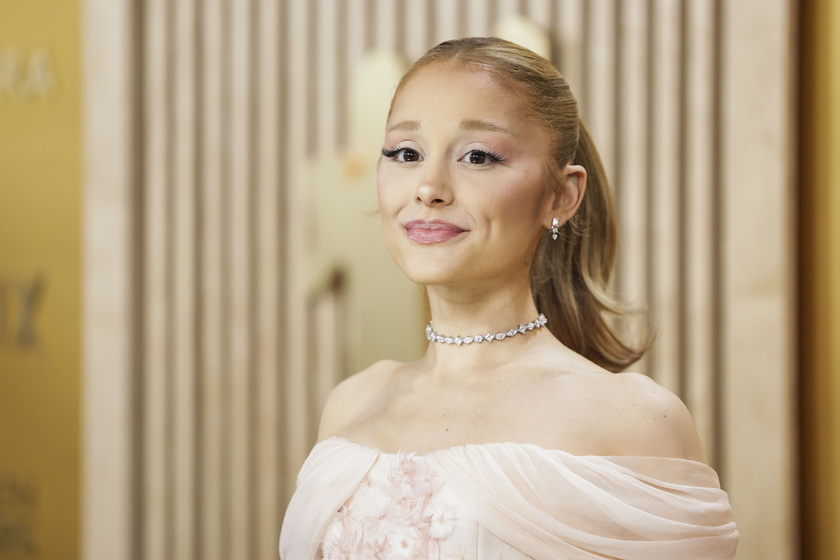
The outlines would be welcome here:
[[[318,443],[283,521],[283,560],[315,560],[325,529],[377,459]],[[536,445],[464,445],[420,455],[476,525],[476,560],[730,560],[738,532],[713,469],[662,457],[576,456]]]

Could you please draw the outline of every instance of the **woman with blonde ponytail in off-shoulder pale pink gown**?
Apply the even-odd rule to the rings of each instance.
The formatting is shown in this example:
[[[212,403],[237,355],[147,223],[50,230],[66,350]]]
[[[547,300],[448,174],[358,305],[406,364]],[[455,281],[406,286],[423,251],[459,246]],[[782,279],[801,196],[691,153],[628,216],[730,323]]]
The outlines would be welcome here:
[[[615,210],[568,85],[500,39],[438,45],[394,96],[377,176],[426,286],[417,362],[330,395],[284,560],[728,559],[726,494],[680,400],[622,371]]]

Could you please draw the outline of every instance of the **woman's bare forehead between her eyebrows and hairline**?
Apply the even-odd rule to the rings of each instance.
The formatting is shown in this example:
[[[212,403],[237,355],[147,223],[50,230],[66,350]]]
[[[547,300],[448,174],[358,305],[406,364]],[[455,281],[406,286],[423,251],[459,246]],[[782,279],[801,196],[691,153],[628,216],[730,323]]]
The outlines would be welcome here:
[[[523,119],[524,97],[493,72],[477,64],[434,62],[412,75],[397,92],[391,109],[396,118],[422,119],[424,113],[457,119]]]

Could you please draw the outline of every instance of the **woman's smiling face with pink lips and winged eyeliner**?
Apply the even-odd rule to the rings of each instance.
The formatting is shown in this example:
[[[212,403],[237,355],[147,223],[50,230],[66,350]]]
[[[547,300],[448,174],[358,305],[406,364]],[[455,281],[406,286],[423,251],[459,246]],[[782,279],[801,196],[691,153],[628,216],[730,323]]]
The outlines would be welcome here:
[[[550,138],[521,103],[486,70],[446,62],[395,98],[376,186],[386,244],[413,281],[527,278],[556,196]]]

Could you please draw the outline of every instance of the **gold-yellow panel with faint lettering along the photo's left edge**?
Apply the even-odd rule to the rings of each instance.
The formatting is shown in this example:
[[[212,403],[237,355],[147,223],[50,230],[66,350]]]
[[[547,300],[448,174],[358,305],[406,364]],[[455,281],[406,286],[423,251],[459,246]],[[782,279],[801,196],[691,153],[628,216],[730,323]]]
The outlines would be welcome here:
[[[79,556],[79,2],[0,0],[0,560]]]

